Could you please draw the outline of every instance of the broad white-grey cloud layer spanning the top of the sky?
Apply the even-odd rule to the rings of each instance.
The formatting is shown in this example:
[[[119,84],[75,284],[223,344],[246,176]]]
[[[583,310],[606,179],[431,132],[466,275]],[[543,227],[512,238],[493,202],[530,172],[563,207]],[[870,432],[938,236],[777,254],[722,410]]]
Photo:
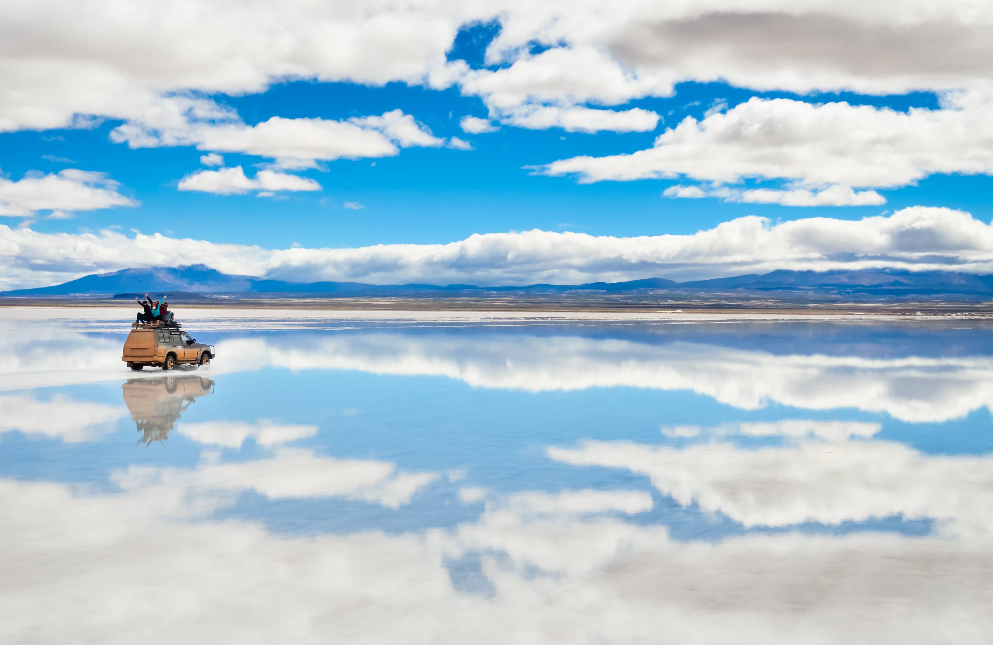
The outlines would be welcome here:
[[[190,0],[125,15],[109,2],[90,3],[83,15],[66,0],[0,11],[8,89],[0,129],[87,127],[106,117],[125,121],[132,143],[142,132],[154,139],[177,124],[232,116],[204,95],[261,92],[296,78],[458,84],[498,116],[521,106],[619,105],[668,95],[684,80],[885,94],[981,89],[993,72],[993,15],[967,0],[940,9],[915,0],[900,12],[784,0],[376,0],[361,12],[293,1],[252,6],[233,25],[223,3]],[[447,61],[462,26],[490,21],[500,30],[487,63],[500,66]],[[547,49],[532,54],[534,44]]]

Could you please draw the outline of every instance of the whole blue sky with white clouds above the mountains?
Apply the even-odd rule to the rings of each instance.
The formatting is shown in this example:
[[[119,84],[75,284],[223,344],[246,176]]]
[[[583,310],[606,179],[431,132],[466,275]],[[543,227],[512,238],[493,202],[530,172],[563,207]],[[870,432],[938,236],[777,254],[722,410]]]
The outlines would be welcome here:
[[[59,13],[58,0],[42,4]],[[292,5],[276,17],[253,9],[227,40],[213,36],[218,43],[205,42],[198,29],[229,18],[219,4],[194,9],[200,25],[153,10],[120,18],[97,3],[91,18],[117,21],[100,33],[74,24],[63,5],[69,15],[54,19],[6,8],[8,23],[20,29],[4,56],[35,73],[11,75],[10,96],[0,103],[0,213],[9,215],[0,218],[9,260],[0,286],[191,261],[232,273],[380,283],[683,279],[838,268],[851,259],[859,267],[989,272],[988,74],[962,58],[985,46],[959,42],[981,35],[986,23],[919,8],[915,29],[947,31],[941,45],[950,62],[937,65],[915,49],[921,34],[895,27],[906,18],[900,15],[836,8],[831,18],[804,10],[783,36],[785,13],[769,18],[747,5],[736,5],[740,22],[730,23],[730,37],[713,27],[727,10],[720,2],[701,5],[695,18],[675,9],[654,16],[651,3],[635,2],[625,19],[595,5],[509,3],[500,13],[413,3],[403,14],[384,3],[365,16],[337,5],[309,15]],[[638,20],[638,12],[654,22]],[[288,51],[242,47],[264,38],[270,20],[291,38]],[[385,37],[375,33],[376,21],[391,20],[399,26]],[[658,54],[682,43],[666,30],[687,20],[699,23],[700,38]],[[645,25],[656,31],[645,36]],[[308,31],[318,28],[356,36],[343,44]],[[763,30],[781,45],[757,46]],[[800,43],[806,32],[814,36]],[[817,42],[821,32],[831,38]],[[49,44],[59,33],[71,35],[74,49]],[[874,34],[887,36],[867,40]],[[108,53],[102,43],[116,49]],[[888,57],[899,60],[877,63]],[[392,125],[380,119],[386,114],[395,117]],[[467,116],[487,119],[494,131],[466,131]],[[321,132],[298,129],[305,126],[339,129],[318,140]],[[350,136],[364,139],[336,139]],[[202,164],[212,152],[222,165],[220,158]],[[102,175],[72,175],[76,170]],[[238,176],[218,176],[228,170]],[[278,182],[272,186],[307,190],[271,191],[256,173],[271,174]],[[54,176],[51,186],[35,185],[47,176]],[[785,205],[793,203],[823,205]],[[898,219],[869,221],[855,232],[842,223],[893,213]],[[812,222],[813,232],[778,233],[788,239],[764,246],[739,230],[749,216],[764,218],[774,233],[792,220]],[[849,238],[800,248],[797,237],[824,237],[819,218],[837,222],[828,225]],[[738,222],[731,238],[701,241],[699,231],[727,222]],[[920,236],[922,227],[926,241],[902,246],[907,235],[900,231]],[[548,233],[536,244],[554,249],[549,257],[531,257],[534,244],[505,236],[533,229]],[[118,237],[108,240],[108,231]],[[136,231],[170,241],[142,241]],[[71,237],[60,241],[58,233]],[[426,247],[416,257],[389,247],[389,267],[381,250],[361,262],[327,252],[461,243],[474,234],[503,237],[486,237],[480,253],[487,260],[469,268],[463,247],[452,251],[458,258],[429,267],[424,256],[434,251]],[[980,240],[980,248],[967,242],[949,249],[949,235]],[[583,264],[585,252],[573,242],[599,251],[605,236],[629,241],[610,242],[613,250],[596,266]],[[642,236],[647,241],[631,241]],[[887,239],[862,248],[880,236]],[[198,257],[182,250],[176,240],[184,238],[213,246]],[[246,247],[254,259],[233,262],[230,248],[217,247],[223,244]],[[673,261],[686,244],[734,249],[698,249]],[[67,245],[86,249],[67,254]],[[254,246],[323,256],[282,261],[262,258],[248,248]],[[940,258],[922,261],[922,250]],[[638,255],[650,259],[630,260]],[[732,266],[722,262],[729,255],[747,258]],[[523,256],[530,259],[514,262]]]

